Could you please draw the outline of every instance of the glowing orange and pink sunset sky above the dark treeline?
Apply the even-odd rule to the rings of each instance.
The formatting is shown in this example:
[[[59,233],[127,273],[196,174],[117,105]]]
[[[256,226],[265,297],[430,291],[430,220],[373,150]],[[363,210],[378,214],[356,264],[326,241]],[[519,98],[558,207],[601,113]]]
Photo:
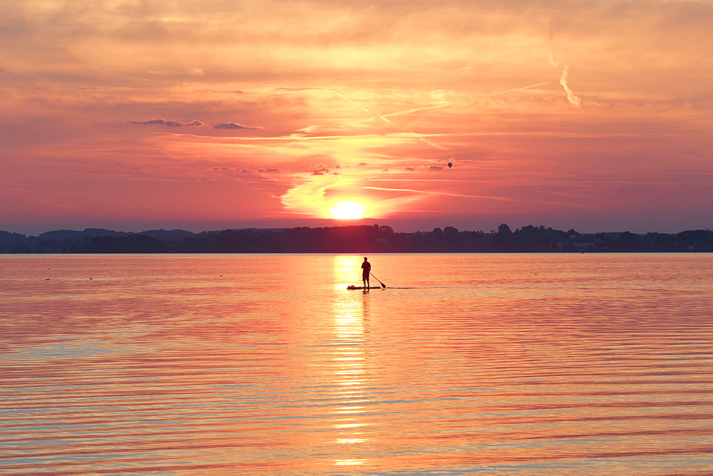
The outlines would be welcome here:
[[[711,228],[712,24],[710,0],[6,1],[0,229]]]

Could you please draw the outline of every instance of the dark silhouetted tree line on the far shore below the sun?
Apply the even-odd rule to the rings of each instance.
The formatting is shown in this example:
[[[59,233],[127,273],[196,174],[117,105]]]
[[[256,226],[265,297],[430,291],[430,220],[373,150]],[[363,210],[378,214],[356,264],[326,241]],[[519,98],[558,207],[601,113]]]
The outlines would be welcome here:
[[[713,252],[713,231],[584,234],[540,225],[514,231],[397,233],[384,225],[287,229],[225,229],[193,233],[107,229],[60,230],[37,237],[0,232],[0,253],[517,253],[517,252]]]

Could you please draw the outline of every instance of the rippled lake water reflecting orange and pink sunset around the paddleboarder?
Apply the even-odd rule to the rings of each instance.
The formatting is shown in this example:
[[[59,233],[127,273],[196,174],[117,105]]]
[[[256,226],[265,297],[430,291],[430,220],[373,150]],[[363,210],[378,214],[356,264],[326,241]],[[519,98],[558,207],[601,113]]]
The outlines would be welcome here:
[[[713,254],[0,255],[0,472],[713,472]]]

